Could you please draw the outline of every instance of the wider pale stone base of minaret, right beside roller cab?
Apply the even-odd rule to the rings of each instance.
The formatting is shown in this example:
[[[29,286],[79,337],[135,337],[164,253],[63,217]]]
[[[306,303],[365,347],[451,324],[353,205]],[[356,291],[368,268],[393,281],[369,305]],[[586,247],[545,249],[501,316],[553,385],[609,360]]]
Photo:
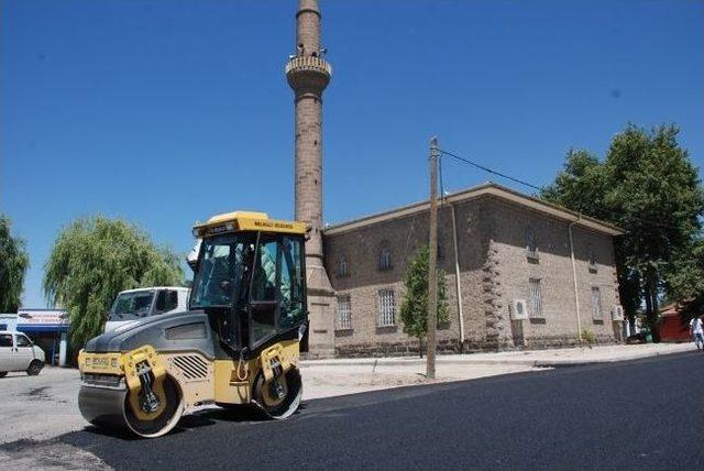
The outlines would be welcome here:
[[[308,353],[306,358],[334,357],[334,291],[326,269],[320,265],[306,267],[308,285]]]

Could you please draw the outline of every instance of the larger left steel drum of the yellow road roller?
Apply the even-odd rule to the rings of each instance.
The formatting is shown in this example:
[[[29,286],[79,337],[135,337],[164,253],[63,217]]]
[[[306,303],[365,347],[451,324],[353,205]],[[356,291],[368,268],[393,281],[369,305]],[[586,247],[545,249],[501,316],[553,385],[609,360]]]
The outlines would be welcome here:
[[[129,430],[144,438],[155,438],[168,434],[184,414],[184,401],[178,385],[170,377],[164,379],[163,401],[155,414],[138,414],[132,408],[128,390],[80,386],[78,408],[90,424],[112,429]],[[134,394],[134,393],[131,393]]]

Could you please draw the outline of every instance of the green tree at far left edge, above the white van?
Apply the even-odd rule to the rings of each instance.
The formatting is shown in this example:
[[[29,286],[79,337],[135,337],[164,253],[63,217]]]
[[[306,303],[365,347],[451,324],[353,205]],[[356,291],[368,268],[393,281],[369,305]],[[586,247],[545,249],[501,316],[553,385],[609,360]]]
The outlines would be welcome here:
[[[0,215],[0,313],[16,313],[30,258],[24,241],[10,233],[10,220]]]

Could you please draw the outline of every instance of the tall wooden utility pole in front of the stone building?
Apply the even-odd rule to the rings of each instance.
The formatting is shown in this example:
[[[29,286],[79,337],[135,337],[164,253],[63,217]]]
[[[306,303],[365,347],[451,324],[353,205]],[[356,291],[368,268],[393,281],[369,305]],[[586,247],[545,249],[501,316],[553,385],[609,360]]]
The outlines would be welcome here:
[[[436,379],[438,324],[438,138],[430,140],[430,261],[428,263],[428,354],[426,376]]]

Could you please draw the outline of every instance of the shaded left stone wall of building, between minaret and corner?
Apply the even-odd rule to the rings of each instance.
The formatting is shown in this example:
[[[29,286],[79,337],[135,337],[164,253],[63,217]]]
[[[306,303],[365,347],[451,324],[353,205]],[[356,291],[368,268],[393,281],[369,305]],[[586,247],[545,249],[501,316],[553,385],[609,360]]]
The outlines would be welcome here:
[[[446,270],[450,321],[439,326],[438,344],[441,351],[459,351],[459,320],[457,309],[454,260],[450,212],[440,211],[440,266]],[[352,328],[336,329],[338,354],[410,354],[418,353],[418,340],[403,331],[400,306],[404,298],[403,278],[416,250],[428,240],[428,215],[415,215],[366,226],[353,231],[324,238],[326,266],[338,296],[349,295],[352,307]],[[380,251],[391,251],[392,267],[380,270]],[[448,253],[449,252],[449,253]],[[340,256],[348,261],[348,275],[338,273]],[[393,289],[395,325],[378,327],[378,292]],[[338,326],[339,327],[339,326]]]

